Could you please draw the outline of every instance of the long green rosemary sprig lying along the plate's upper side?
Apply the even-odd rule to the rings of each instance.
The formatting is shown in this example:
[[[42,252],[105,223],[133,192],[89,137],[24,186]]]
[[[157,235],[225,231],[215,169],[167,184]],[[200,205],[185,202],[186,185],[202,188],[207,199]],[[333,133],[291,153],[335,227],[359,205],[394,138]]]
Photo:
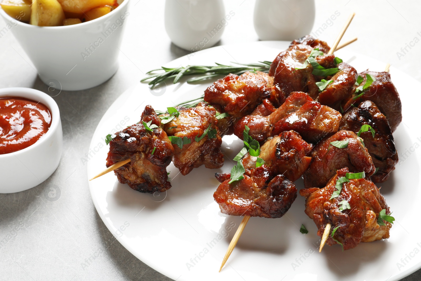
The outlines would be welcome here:
[[[177,68],[161,67],[148,71],[146,74],[149,75],[140,81],[144,82],[146,80],[150,80],[148,83],[149,85],[156,85],[160,82],[163,82],[164,80],[173,78],[173,83],[175,84],[186,75],[200,75],[198,77],[190,78],[187,80],[187,83],[194,83],[208,80],[209,78],[213,78],[219,75],[228,75],[230,73],[241,75],[246,71],[269,72],[269,67],[272,62],[263,61],[250,64],[239,64],[236,62],[232,63],[237,64],[238,66],[215,63],[215,66],[187,65],[186,67]]]

